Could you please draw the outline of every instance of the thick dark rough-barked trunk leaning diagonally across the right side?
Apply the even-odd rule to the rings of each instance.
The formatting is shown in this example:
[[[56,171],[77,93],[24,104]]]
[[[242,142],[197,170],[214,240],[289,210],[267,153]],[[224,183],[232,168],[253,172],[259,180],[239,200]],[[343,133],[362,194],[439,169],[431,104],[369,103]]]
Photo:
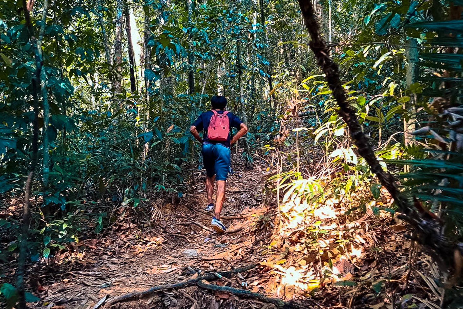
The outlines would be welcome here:
[[[325,79],[332,90],[332,96],[338,103],[338,114],[347,124],[350,136],[357,146],[358,153],[365,159],[381,184],[394,198],[395,204],[402,213],[400,218],[415,227],[417,232],[416,239],[432,250],[438,262],[444,262],[447,267],[453,265],[457,269],[461,266],[462,262],[462,254],[458,246],[450,243],[450,241],[440,233],[442,225],[438,220],[431,216],[431,218],[428,218],[418,214],[416,208],[412,206],[409,199],[400,192],[395,178],[388,171],[383,170],[379,161],[376,159],[375,152],[369,145],[368,138],[357,120],[356,111],[347,101],[343,83],[339,78],[338,65],[329,57],[330,50],[325,40],[321,37],[320,27],[313,10],[312,0],[298,1],[307,31],[312,38],[312,41],[309,43],[310,49],[315,54],[318,65],[325,73]]]

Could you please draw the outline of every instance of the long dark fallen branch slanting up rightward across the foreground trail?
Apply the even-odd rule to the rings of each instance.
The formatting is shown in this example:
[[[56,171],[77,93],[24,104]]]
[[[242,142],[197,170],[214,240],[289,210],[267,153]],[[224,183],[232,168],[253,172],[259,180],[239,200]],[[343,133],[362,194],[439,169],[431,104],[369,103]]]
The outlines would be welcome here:
[[[210,272],[210,273],[205,274],[204,276],[196,277],[196,278],[178,282],[178,283],[156,285],[156,286],[149,288],[148,290],[132,292],[132,293],[123,294],[121,296],[113,297],[105,304],[105,307],[110,307],[115,303],[125,302],[135,297],[143,297],[143,296],[149,295],[157,291],[186,288],[188,286],[195,285],[200,280],[207,280],[207,281],[217,280],[218,279],[217,274],[219,274],[222,277],[229,278],[229,277],[232,277],[233,274],[237,274],[237,273],[244,272],[244,271],[249,271],[255,268],[256,266],[257,264],[251,264],[251,265],[244,266],[241,268],[233,269],[231,271]]]

